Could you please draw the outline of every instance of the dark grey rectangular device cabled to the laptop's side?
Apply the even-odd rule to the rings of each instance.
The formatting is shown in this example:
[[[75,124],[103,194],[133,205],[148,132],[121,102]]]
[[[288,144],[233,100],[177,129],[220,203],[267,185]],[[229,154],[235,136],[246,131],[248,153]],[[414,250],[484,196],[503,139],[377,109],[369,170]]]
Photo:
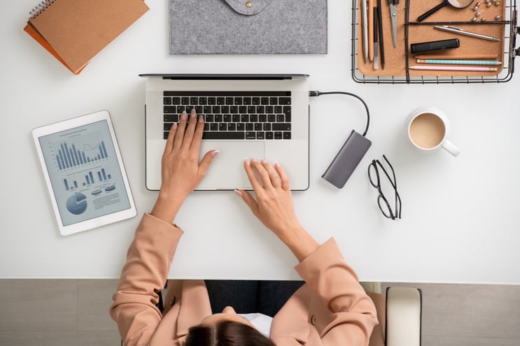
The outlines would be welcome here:
[[[336,157],[332,160],[321,178],[341,189],[349,180],[361,159],[365,156],[372,142],[365,136],[352,130]]]

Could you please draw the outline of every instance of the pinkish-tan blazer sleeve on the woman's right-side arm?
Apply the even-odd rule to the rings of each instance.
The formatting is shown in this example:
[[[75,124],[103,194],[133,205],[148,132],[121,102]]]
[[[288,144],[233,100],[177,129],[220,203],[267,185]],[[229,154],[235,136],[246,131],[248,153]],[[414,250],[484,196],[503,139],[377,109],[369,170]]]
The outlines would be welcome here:
[[[321,344],[368,345],[378,324],[376,308],[335,240],[323,243],[295,269],[331,312],[319,331]]]

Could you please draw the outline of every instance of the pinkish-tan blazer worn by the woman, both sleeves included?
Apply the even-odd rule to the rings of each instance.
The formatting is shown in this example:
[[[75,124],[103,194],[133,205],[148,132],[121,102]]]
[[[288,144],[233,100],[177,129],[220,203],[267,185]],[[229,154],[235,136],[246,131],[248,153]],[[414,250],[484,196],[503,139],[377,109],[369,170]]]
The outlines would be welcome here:
[[[155,307],[183,231],[145,214],[113,295],[111,317],[125,346],[183,345],[188,329],[211,315],[203,280],[177,282],[164,316]],[[295,266],[306,282],[273,319],[276,345],[368,345],[377,325],[372,300],[333,238]]]

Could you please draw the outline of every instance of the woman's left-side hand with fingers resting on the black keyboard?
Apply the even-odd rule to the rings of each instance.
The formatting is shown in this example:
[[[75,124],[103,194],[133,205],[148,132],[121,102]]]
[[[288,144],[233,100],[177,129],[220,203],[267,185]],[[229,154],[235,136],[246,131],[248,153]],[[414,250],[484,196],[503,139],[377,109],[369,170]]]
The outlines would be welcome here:
[[[199,163],[200,143],[204,132],[204,118],[197,117],[195,110],[188,115],[183,112],[171,130],[162,154],[161,188],[152,215],[172,222],[185,198],[206,175],[206,171],[218,154],[211,150]]]

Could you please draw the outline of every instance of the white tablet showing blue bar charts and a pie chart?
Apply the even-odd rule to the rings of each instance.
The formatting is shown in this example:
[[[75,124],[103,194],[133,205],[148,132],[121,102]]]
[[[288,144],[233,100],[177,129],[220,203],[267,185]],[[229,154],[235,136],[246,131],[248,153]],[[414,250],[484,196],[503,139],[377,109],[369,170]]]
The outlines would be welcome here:
[[[136,216],[108,111],[38,127],[32,134],[63,236]]]

